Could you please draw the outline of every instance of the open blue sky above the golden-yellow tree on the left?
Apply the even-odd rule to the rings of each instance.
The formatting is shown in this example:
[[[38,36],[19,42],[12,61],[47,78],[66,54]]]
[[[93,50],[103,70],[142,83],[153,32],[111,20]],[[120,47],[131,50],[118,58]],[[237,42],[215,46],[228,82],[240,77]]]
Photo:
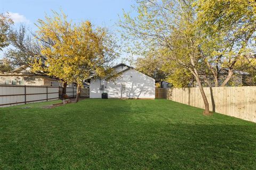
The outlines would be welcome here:
[[[134,0],[0,0],[0,13],[9,12],[15,22],[26,24],[30,30],[36,30],[34,23],[43,19],[45,13],[60,8],[74,22],[90,20],[95,26],[103,26],[115,32],[116,23],[123,10],[131,11]],[[3,53],[0,53],[0,57]]]

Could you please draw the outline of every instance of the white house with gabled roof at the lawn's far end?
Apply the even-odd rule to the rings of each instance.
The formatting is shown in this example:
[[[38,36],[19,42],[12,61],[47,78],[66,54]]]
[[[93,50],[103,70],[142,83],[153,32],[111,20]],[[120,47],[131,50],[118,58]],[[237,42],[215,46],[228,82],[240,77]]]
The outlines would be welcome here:
[[[155,79],[123,63],[114,69],[119,73],[114,81],[91,80],[90,98],[101,98],[107,92],[108,98],[155,99]]]

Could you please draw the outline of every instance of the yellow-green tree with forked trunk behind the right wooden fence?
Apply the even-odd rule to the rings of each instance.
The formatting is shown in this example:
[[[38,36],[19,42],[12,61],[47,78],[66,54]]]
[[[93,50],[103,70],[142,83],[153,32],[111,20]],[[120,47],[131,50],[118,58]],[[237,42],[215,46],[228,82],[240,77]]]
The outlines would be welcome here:
[[[226,86],[242,57],[255,54],[256,2],[252,0],[195,1],[201,54],[214,77],[215,87]],[[242,57],[241,57],[242,56]],[[250,58],[254,62],[255,58]],[[239,64],[238,64],[239,65]],[[219,81],[219,74],[228,69]]]

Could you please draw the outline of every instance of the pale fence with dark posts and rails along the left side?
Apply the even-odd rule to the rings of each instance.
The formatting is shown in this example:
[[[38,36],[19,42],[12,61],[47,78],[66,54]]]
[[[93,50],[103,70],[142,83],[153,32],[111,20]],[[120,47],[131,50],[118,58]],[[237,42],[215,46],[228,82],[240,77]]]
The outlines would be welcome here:
[[[0,85],[0,107],[59,99],[62,87]],[[67,88],[69,97],[76,96],[76,88]]]

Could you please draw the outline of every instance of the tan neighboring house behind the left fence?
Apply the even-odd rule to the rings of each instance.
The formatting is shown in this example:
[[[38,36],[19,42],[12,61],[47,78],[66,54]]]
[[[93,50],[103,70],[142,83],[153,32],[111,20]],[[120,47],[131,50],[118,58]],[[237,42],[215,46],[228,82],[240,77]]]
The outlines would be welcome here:
[[[57,79],[44,75],[35,75],[26,66],[21,66],[9,73],[0,73],[0,84],[31,85],[31,86],[61,86]]]

